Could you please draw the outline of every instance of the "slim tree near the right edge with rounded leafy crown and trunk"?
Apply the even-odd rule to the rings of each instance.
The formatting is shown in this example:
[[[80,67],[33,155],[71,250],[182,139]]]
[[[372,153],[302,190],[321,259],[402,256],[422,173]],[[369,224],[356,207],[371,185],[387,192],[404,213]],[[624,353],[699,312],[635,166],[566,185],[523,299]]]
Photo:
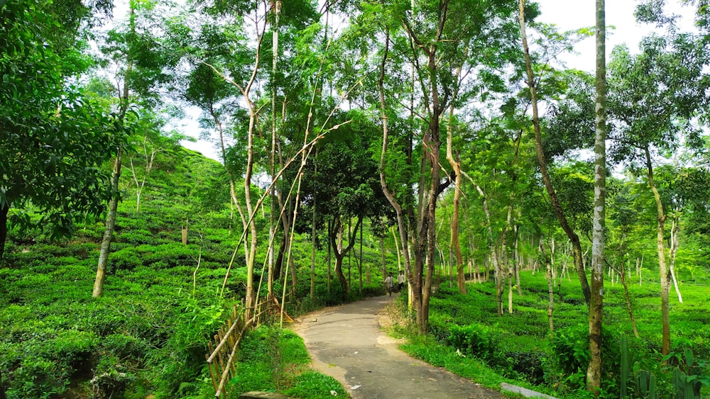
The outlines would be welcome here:
[[[669,270],[665,254],[667,212],[656,184],[654,157],[673,152],[680,135],[697,143],[692,117],[705,101],[706,49],[694,35],[651,35],[641,53],[612,52],[609,113],[613,123],[611,159],[644,173],[656,208],[656,251],[661,281],[662,353],[670,352]]]

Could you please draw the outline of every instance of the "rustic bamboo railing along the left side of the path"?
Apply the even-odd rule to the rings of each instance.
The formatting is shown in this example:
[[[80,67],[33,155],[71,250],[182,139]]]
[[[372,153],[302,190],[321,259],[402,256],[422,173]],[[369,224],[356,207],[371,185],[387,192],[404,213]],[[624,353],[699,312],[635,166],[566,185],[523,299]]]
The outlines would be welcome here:
[[[253,316],[244,320],[244,314],[237,311],[234,305],[231,317],[224,322],[222,328],[214,335],[212,341],[207,342],[209,354],[207,365],[212,376],[215,398],[226,396],[226,382],[234,376],[236,355],[239,353],[239,342],[244,333],[251,327],[258,327],[263,322],[268,322],[273,316],[283,317],[283,320],[293,322],[293,319],[282,309],[275,296],[263,298],[254,307]]]

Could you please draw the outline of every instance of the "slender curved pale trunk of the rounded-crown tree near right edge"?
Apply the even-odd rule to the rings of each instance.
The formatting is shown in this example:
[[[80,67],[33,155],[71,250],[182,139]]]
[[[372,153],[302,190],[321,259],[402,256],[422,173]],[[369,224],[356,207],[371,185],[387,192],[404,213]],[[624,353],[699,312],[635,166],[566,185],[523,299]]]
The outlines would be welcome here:
[[[661,351],[663,356],[670,352],[670,315],[669,315],[669,305],[668,305],[668,294],[670,292],[670,286],[668,284],[668,269],[665,262],[665,245],[663,242],[664,228],[666,215],[663,211],[663,203],[661,202],[661,196],[656,188],[653,181],[653,166],[651,164],[651,154],[648,150],[648,146],[645,147],[646,154],[646,169],[648,172],[648,186],[650,186],[653,192],[653,198],[656,203],[656,210],[658,213],[657,217],[657,230],[656,230],[656,249],[658,254],[658,269],[660,271],[661,279],[661,325],[662,325],[662,345]]]

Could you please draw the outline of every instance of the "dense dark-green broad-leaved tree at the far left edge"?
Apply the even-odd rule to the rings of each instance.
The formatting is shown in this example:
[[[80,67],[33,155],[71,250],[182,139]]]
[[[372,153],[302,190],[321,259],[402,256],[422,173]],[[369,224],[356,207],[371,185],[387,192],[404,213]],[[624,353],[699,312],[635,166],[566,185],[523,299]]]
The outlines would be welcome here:
[[[56,16],[26,1],[3,4],[0,13],[1,259],[11,207],[37,209],[39,226],[55,238],[70,234],[75,220],[102,212],[107,176],[100,165],[113,154],[107,148],[124,140],[124,127],[67,84],[67,74],[82,71],[86,60],[52,41],[67,40],[53,30]],[[11,219],[31,225],[26,214]]]

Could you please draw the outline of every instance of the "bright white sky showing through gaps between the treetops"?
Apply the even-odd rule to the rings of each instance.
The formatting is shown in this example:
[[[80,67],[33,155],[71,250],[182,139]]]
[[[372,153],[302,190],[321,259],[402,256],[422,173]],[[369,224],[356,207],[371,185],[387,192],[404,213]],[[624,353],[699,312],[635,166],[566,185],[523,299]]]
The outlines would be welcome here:
[[[667,2],[669,3],[668,10],[683,16],[681,30],[690,30],[693,24],[692,7],[679,6],[677,0]],[[574,30],[595,25],[595,0],[537,0],[537,3],[540,4],[540,11],[542,11],[538,20],[554,23],[559,27],[559,30]],[[641,38],[652,30],[657,30],[654,26],[636,23],[633,16],[636,4],[638,4],[636,0],[606,1],[606,25],[613,26],[613,29],[607,30],[607,62],[614,46],[626,43],[632,52],[636,52]],[[566,66],[594,73],[596,57],[594,37],[586,38],[574,50],[574,54],[562,55],[561,59]],[[188,135],[197,137],[200,134],[200,128],[197,126],[199,111],[190,112],[190,114],[194,120],[185,120],[182,128]],[[207,157],[219,159],[211,142],[183,142],[182,144],[187,148],[202,152]]]

